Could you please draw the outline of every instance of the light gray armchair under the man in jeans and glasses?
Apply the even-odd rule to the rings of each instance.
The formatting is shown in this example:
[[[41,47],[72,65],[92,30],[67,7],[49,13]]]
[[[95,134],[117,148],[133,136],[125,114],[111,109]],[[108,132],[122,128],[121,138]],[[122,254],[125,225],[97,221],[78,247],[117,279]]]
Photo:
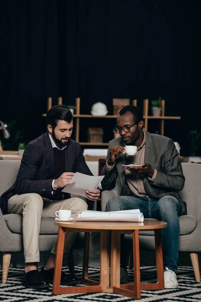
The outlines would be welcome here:
[[[179,195],[187,204],[187,215],[179,217],[180,239],[179,252],[189,252],[196,282],[200,282],[199,255],[201,252],[201,165],[182,163],[185,185]],[[111,191],[102,192],[102,211],[106,210],[106,203],[111,197],[119,196],[121,192],[120,180]],[[125,236],[128,248],[132,238]],[[153,232],[140,232],[140,248],[155,250]]]

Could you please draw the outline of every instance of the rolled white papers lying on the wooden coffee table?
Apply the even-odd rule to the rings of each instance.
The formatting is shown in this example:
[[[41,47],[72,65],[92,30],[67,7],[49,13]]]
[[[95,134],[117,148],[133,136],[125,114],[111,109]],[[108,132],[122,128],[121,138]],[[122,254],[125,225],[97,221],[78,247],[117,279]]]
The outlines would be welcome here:
[[[125,210],[125,211],[112,211],[112,212],[101,212],[101,211],[88,211],[84,210],[76,221],[131,221],[131,222],[143,222],[143,213],[140,213],[139,209]]]

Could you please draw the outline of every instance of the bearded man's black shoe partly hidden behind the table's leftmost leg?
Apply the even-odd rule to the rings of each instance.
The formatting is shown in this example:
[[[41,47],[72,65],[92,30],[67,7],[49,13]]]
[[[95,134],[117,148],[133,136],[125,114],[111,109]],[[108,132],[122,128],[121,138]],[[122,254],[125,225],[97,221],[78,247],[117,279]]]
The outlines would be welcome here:
[[[47,280],[51,284],[53,283],[54,267],[48,270],[44,270],[44,267],[42,267],[40,273],[45,280]],[[74,285],[76,283],[77,283],[76,277],[71,277],[70,275],[67,275],[61,271],[61,285]]]

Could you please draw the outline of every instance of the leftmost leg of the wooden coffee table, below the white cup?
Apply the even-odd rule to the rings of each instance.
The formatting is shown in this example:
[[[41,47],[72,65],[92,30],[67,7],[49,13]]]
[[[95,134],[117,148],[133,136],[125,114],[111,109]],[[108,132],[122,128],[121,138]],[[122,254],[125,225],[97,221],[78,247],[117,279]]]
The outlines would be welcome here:
[[[53,294],[59,294],[60,293],[64,240],[65,240],[65,228],[61,228],[61,226],[59,226],[59,232],[58,232],[58,238],[57,238],[55,269],[54,269],[54,281],[53,281],[53,288],[52,288]]]

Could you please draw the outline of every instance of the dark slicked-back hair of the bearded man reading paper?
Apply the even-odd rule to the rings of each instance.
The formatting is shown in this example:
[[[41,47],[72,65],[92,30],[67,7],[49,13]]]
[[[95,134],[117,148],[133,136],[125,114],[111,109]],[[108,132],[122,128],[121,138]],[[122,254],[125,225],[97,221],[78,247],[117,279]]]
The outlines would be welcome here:
[[[46,125],[51,125],[55,129],[59,120],[66,121],[67,123],[72,121],[72,112],[66,105],[53,106],[47,112]]]

